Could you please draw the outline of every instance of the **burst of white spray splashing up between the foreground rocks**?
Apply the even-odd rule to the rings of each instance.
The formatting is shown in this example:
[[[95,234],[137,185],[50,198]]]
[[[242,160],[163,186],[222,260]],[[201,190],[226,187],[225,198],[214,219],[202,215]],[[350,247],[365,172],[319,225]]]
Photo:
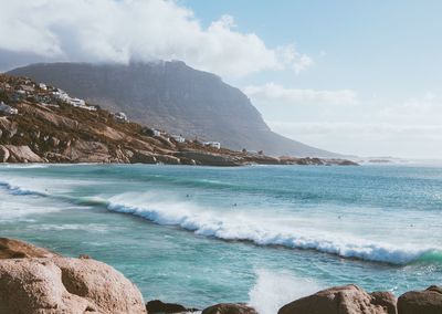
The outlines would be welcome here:
[[[260,314],[274,314],[285,304],[322,289],[315,281],[286,272],[256,271],[256,283],[249,292],[249,304]]]

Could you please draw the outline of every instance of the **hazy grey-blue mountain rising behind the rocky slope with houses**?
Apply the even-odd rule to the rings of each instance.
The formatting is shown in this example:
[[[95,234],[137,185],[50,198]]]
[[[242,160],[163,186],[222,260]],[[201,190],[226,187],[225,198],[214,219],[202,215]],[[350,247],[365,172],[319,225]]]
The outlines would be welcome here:
[[[264,150],[272,156],[338,157],[272,132],[239,88],[183,62],[41,63],[9,74],[59,86],[88,103],[124,112],[137,123],[221,142],[231,149]]]

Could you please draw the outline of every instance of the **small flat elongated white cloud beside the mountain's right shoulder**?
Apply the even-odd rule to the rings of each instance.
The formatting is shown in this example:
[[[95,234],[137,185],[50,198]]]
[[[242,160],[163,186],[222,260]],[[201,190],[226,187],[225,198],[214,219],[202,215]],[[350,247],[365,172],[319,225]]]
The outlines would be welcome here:
[[[243,92],[256,102],[275,104],[333,104],[348,105],[357,103],[357,94],[350,90],[317,91],[286,88],[275,83],[261,86],[246,86]]]

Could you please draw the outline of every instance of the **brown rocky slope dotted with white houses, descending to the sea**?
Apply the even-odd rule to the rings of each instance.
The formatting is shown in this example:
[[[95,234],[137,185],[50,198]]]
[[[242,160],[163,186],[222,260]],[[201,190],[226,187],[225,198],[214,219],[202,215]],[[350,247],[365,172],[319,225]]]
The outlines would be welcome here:
[[[339,164],[234,151],[126,121],[29,78],[0,75],[0,163],[144,163],[211,166]],[[212,146],[211,146],[212,145]]]

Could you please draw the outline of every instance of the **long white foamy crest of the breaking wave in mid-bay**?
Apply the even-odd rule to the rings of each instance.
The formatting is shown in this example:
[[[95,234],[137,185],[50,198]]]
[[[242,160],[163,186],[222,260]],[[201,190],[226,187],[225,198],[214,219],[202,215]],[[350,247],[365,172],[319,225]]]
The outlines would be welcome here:
[[[320,231],[284,223],[272,213],[217,211],[196,205],[160,199],[155,195],[123,193],[109,199],[108,209],[146,218],[158,224],[180,226],[197,234],[223,240],[245,240],[260,245],[283,245],[372,262],[407,264],[441,248],[396,245],[371,241],[343,231]]]

